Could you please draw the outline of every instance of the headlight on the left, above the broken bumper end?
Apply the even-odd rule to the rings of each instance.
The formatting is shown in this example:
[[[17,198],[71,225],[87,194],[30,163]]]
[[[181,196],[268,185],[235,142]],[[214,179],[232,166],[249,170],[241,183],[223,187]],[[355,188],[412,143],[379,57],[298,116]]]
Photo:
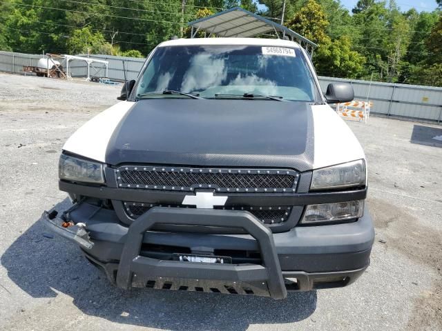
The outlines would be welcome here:
[[[102,163],[77,159],[61,154],[59,161],[59,178],[68,181],[87,183],[104,183]]]

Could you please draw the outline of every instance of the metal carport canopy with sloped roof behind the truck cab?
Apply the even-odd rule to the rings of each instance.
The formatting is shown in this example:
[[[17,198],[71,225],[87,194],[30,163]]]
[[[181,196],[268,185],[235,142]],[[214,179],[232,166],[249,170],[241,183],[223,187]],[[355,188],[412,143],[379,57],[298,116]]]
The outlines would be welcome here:
[[[215,34],[218,37],[243,38],[258,36],[267,32],[276,32],[278,35],[278,32],[282,32],[283,36],[291,37],[291,40],[297,39],[300,43],[307,43],[312,48],[317,46],[316,43],[302,37],[294,30],[239,7],[224,10],[223,12],[191,21],[188,24],[192,27],[191,37],[195,37],[196,32],[200,30],[209,32],[209,34]]]

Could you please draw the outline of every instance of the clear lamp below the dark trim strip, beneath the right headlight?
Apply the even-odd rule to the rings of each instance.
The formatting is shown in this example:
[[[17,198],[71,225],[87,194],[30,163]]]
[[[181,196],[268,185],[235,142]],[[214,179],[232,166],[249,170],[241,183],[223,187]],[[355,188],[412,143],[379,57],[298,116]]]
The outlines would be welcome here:
[[[321,222],[347,221],[349,219],[357,219],[362,217],[363,213],[363,200],[307,205],[301,223],[312,224]]]

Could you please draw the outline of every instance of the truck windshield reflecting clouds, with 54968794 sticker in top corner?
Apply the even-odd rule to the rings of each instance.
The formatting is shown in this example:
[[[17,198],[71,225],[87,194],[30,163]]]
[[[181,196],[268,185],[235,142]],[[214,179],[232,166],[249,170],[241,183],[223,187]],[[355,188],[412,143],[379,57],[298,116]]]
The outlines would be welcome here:
[[[161,93],[167,90],[206,99],[252,94],[314,101],[316,95],[302,52],[298,48],[267,46],[157,48],[140,78],[135,97],[183,97]]]

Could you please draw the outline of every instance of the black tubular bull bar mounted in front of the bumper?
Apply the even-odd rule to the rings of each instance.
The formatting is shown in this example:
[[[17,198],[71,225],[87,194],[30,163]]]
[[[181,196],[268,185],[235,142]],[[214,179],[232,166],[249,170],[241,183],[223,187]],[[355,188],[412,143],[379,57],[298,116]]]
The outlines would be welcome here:
[[[213,232],[223,227],[242,228],[258,241],[262,265],[192,263],[143,257],[140,255],[143,239],[146,236],[148,242],[148,230],[157,224],[200,225],[206,226],[208,232],[211,228]],[[146,284],[155,279],[176,280],[184,284],[198,281],[201,286],[209,287],[213,283],[228,283],[233,287],[238,283],[259,284],[258,287],[264,287],[273,299],[287,297],[271,230],[249,212],[240,210],[154,207],[138,217],[128,228],[118,265],[117,286],[128,289],[134,282]]]

